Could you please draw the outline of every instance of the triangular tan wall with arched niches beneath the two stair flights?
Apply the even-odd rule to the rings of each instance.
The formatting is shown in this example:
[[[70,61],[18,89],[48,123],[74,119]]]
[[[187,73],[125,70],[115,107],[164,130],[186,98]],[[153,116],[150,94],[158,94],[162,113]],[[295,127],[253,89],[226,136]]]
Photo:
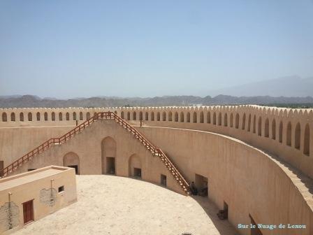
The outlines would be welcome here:
[[[108,141],[110,140],[110,141]],[[108,143],[108,144],[107,144]],[[129,131],[112,120],[99,120],[80,134],[62,145],[45,150],[36,159],[23,164],[15,173],[28,169],[38,169],[52,164],[59,166],[78,165],[78,173],[83,175],[107,172],[106,157],[115,158],[117,176],[133,176],[131,158],[136,155],[141,166],[141,177],[148,182],[160,184],[161,174],[166,176],[167,186],[184,194],[180,185],[159,157],[151,152]]]

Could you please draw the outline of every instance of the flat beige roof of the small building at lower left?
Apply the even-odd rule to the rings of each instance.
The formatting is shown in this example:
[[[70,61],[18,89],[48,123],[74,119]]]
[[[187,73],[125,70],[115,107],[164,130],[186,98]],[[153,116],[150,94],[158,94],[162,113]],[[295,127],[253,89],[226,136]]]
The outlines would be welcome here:
[[[16,176],[11,176],[8,178],[3,178],[0,180],[0,191],[8,190],[13,187],[17,187],[20,185],[24,185],[27,183],[34,182],[36,180],[40,180],[42,178],[47,178],[49,176],[54,176],[57,173],[60,173],[64,170],[68,169],[67,167],[54,167],[48,166],[42,169],[29,171],[27,173],[20,173]]]

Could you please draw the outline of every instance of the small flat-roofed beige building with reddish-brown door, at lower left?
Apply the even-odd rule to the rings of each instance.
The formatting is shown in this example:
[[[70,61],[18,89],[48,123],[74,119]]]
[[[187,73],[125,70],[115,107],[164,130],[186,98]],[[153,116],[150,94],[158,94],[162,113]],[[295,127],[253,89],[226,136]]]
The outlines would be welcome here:
[[[75,169],[47,166],[0,179],[0,234],[10,234],[77,201]]]

